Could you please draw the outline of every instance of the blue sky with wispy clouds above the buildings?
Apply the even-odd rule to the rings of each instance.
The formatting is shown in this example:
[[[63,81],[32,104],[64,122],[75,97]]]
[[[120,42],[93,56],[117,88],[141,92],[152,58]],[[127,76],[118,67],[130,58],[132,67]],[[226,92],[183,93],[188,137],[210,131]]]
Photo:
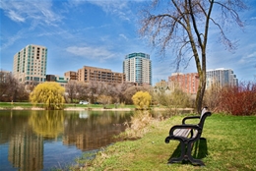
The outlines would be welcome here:
[[[173,56],[161,58],[149,42],[138,34],[138,10],[144,0],[1,0],[0,68],[13,69],[13,56],[28,44],[46,46],[46,74],[63,76],[83,66],[122,73],[125,55],[144,52],[153,62],[153,84],[166,80],[173,67]],[[228,36],[237,41],[229,52],[210,30],[208,69],[232,69],[239,81],[254,81],[256,75],[256,2],[241,13],[245,28],[230,27]],[[190,61],[182,73],[196,72]]]

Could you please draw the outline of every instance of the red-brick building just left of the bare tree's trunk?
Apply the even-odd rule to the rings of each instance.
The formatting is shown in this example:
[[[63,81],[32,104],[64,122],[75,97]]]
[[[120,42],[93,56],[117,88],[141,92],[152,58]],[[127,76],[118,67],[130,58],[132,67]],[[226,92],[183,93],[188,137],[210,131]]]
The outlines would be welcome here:
[[[186,93],[196,94],[199,85],[199,77],[197,73],[173,73],[168,77],[168,82],[171,91],[175,88],[180,88]]]

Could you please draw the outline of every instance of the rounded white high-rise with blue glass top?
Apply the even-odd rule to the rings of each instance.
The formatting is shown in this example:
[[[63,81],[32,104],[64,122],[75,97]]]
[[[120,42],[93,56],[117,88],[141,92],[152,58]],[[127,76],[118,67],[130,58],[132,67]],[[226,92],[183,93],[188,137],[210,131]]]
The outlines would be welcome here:
[[[125,56],[123,73],[127,82],[152,85],[152,61],[146,53],[131,53]]]

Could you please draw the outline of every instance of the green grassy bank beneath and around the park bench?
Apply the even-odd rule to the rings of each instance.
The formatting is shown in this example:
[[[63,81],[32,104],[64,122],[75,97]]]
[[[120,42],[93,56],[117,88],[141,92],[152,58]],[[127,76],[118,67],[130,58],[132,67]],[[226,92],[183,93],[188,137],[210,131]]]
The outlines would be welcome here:
[[[203,131],[206,141],[200,142],[199,153],[193,152],[206,167],[189,163],[167,165],[171,155],[178,156],[178,142],[165,143],[164,139],[169,128],[179,124],[183,117],[154,122],[140,140],[108,146],[83,170],[256,170],[256,116],[221,114],[207,118]]]

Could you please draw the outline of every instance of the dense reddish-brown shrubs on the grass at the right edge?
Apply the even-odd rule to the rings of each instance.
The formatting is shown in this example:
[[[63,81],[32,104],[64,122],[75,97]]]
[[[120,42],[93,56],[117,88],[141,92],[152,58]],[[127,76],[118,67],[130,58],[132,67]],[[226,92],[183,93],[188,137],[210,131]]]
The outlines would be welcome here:
[[[232,115],[256,114],[255,83],[239,83],[238,86],[227,85],[218,90],[212,89],[210,92],[205,97],[205,103],[212,105],[210,106],[211,110],[214,107],[216,111]]]

